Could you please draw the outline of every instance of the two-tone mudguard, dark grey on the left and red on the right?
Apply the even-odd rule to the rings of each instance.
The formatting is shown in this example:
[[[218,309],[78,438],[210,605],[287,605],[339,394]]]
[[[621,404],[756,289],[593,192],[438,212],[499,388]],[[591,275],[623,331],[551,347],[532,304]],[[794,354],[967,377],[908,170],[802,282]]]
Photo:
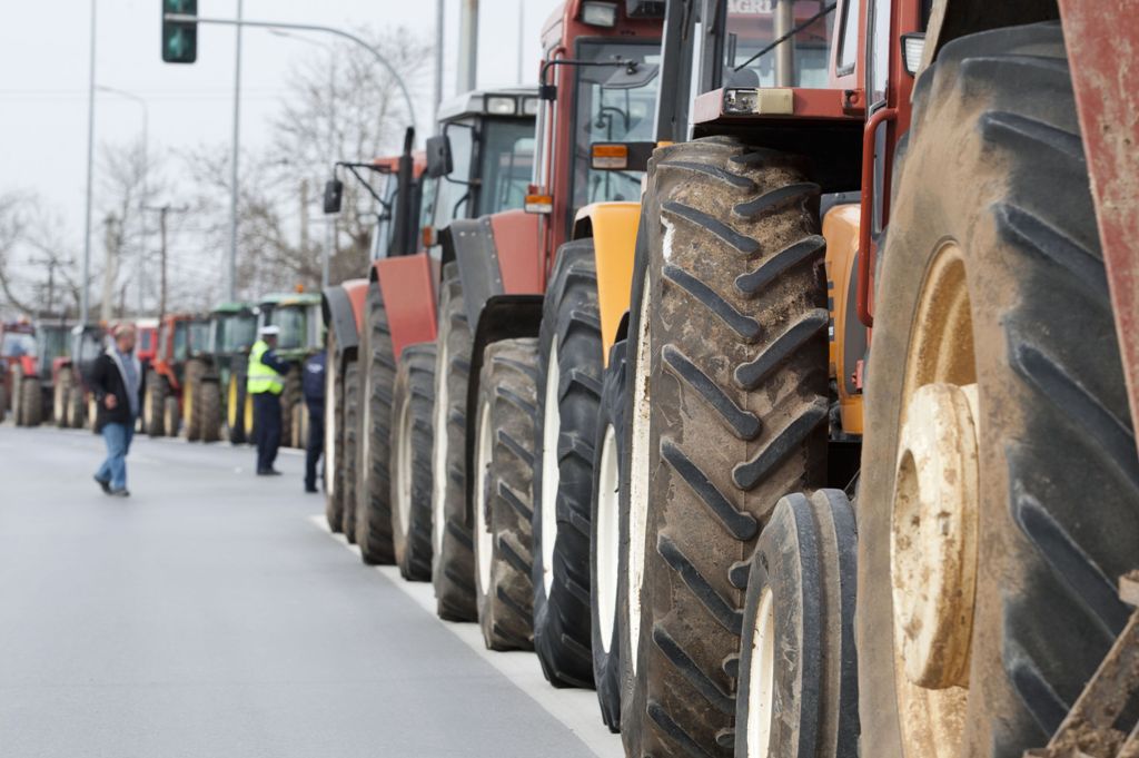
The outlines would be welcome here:
[[[443,262],[459,267],[472,327],[491,298],[541,294],[546,261],[538,248],[538,217],[503,211],[452,221],[442,233]]]

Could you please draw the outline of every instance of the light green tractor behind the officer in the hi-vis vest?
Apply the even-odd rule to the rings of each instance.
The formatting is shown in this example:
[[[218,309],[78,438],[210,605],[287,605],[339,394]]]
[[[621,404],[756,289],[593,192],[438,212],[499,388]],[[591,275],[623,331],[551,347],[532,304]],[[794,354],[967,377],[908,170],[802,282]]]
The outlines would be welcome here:
[[[259,329],[262,326],[280,328],[280,335],[277,337],[277,356],[289,364],[289,370],[285,375],[285,391],[281,392],[281,445],[303,448],[308,438],[309,414],[301,393],[301,368],[311,354],[323,349],[325,326],[320,295],[309,293],[265,295],[257,311]],[[251,401],[247,407],[252,405]]]

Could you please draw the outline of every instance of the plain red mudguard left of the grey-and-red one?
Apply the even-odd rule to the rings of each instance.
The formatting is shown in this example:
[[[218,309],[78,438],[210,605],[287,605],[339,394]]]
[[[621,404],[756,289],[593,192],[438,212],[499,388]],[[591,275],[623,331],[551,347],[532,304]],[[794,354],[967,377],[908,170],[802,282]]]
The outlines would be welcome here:
[[[404,348],[433,342],[439,333],[437,266],[426,253],[385,258],[371,266],[370,286],[378,286],[384,296],[396,361]]]

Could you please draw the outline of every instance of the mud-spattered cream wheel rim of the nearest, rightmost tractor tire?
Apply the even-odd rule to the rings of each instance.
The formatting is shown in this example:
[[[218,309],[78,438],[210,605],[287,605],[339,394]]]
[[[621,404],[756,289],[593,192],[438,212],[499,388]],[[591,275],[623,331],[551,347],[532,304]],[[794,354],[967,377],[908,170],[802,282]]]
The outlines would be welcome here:
[[[961,751],[978,510],[976,361],[960,248],[923,283],[906,359],[891,519],[894,685],[908,755]]]

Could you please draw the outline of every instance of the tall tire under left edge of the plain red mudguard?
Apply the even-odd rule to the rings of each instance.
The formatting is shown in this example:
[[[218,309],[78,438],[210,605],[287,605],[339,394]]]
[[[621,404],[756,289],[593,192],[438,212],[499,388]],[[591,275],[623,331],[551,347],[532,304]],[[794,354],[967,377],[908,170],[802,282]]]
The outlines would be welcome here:
[[[368,287],[366,324],[360,335],[359,448],[357,450],[357,544],[364,563],[392,563],[392,390],[395,353],[379,285]]]

